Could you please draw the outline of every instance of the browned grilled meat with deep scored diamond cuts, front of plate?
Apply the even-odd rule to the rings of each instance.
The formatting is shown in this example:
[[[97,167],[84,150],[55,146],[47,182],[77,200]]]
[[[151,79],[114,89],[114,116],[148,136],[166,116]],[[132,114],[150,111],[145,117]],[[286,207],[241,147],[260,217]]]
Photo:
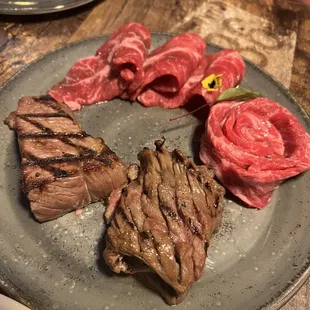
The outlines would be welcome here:
[[[155,144],[155,152],[138,154],[138,176],[118,199],[114,191],[103,256],[116,273],[143,271],[168,304],[177,304],[203,273],[224,188],[207,166],[196,166],[179,150],[169,153],[160,140]]]

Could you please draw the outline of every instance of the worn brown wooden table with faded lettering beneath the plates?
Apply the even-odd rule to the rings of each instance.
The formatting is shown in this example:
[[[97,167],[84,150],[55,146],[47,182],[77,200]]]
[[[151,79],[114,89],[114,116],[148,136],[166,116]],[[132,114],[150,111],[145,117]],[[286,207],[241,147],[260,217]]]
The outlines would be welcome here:
[[[238,49],[287,86],[310,115],[310,5],[298,0],[106,0],[50,15],[0,15],[0,85],[47,52],[131,21],[151,31],[194,31]],[[283,307],[309,309],[310,280]]]

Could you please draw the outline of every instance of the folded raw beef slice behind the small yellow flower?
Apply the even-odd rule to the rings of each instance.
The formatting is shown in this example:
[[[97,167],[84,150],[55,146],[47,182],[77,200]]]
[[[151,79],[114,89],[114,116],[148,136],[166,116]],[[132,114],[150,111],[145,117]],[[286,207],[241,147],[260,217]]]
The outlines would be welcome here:
[[[221,75],[222,85],[216,91],[208,91],[202,84],[198,84],[192,91],[192,96],[202,96],[206,103],[212,106],[217,97],[226,89],[237,86],[244,77],[245,63],[241,55],[234,50],[222,50],[218,53],[210,54],[210,65],[208,66],[204,77],[211,74]]]

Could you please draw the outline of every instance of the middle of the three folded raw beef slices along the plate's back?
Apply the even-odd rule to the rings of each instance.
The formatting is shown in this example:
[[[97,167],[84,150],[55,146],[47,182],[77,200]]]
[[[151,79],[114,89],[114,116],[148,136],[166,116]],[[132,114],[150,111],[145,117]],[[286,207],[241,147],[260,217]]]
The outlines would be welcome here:
[[[129,98],[145,106],[164,106],[161,97],[177,95],[203,58],[206,44],[193,33],[175,36],[155,49],[144,62],[145,77],[139,89]],[[191,83],[189,83],[191,84]]]

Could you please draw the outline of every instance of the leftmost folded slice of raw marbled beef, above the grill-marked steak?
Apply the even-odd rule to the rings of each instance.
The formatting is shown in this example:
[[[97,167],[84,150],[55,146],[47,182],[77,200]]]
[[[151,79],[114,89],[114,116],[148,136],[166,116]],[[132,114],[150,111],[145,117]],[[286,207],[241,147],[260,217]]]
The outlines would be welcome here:
[[[96,56],[79,60],[49,95],[72,110],[79,110],[82,105],[119,96],[127,88],[135,91],[144,79],[143,62],[150,42],[150,32],[143,25],[130,23],[120,27]]]

